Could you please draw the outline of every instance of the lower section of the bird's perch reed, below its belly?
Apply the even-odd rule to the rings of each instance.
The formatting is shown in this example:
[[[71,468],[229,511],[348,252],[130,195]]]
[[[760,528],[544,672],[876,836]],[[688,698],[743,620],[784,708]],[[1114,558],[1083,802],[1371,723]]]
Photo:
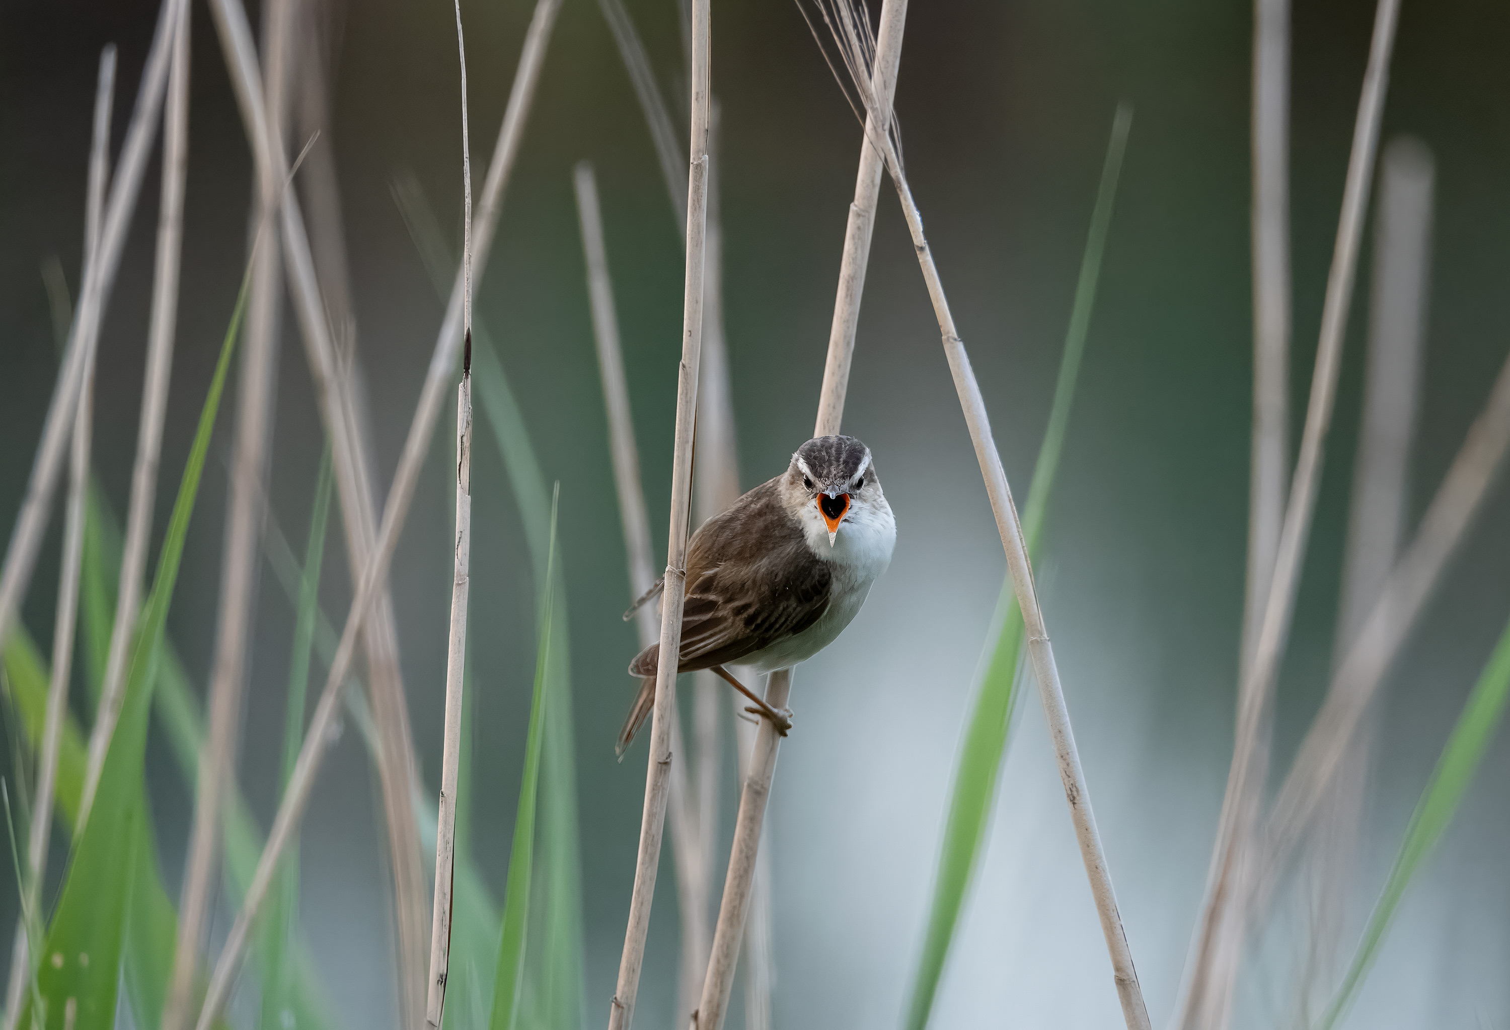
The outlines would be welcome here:
[[[791,669],[772,672],[766,683],[766,704],[779,711],[787,707],[790,696]],[[778,748],[772,737],[779,740],[776,728],[769,719],[761,719],[744,770],[744,785],[740,790],[740,814],[734,823],[734,844],[729,849],[723,899],[719,902],[719,923],[713,932],[713,954],[708,958],[708,976],[702,983],[702,1001],[692,1015],[692,1030],[719,1030],[728,1013],[740,939],[749,914],[750,887],[758,865],[766,803],[770,800],[770,781],[776,773]]]

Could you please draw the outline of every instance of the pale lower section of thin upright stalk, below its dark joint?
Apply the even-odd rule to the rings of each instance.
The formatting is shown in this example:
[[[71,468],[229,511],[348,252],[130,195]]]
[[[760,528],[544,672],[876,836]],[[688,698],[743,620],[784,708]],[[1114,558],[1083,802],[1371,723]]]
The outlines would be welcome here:
[[[462,749],[462,674],[467,666],[467,598],[471,580],[471,378],[456,388],[456,541],[451,630],[445,652],[445,743],[435,829],[435,908],[430,917],[430,977],[426,1024],[441,1025],[451,947],[451,890],[456,864],[456,779]]]

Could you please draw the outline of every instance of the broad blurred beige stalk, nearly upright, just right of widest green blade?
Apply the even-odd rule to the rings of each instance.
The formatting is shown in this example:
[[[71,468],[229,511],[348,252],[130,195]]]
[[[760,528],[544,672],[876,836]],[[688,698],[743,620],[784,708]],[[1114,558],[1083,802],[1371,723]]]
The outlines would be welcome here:
[[[287,69],[293,47],[293,0],[273,0],[264,17],[264,104],[269,131],[284,137]],[[180,1030],[192,1016],[195,973],[205,923],[214,903],[222,806],[236,781],[243,695],[258,594],[258,541],[270,462],[273,414],[278,405],[278,346],[282,325],[282,258],[275,233],[264,233],[285,193],[282,178],[267,163],[257,168],[252,196],[254,257],[246,313],[246,340],[237,381],[236,436],[231,452],[225,545],[220,559],[220,606],[214,661],[208,684],[208,729],[199,751],[193,826],[184,861],[178,908],[178,944],[163,1010],[163,1030]]]

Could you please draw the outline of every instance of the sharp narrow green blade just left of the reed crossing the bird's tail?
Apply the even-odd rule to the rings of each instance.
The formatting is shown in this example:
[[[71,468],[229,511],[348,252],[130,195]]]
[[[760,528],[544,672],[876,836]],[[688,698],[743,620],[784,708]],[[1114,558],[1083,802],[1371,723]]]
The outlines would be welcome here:
[[[551,560],[545,572],[545,601],[541,606],[539,643],[535,655],[535,693],[530,701],[530,728],[524,742],[524,776],[519,806],[513,820],[509,850],[509,879],[504,887],[503,929],[494,974],[491,1030],[515,1030],[519,997],[524,989],[525,930],[530,923],[530,893],[535,884],[535,813],[539,800],[541,752],[545,745],[545,716],[550,707],[547,687],[554,622],[556,506],[551,506]]]

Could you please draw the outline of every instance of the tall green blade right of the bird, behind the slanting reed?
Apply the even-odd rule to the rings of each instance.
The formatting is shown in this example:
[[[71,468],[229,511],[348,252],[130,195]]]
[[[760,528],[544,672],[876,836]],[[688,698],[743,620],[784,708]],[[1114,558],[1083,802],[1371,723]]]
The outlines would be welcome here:
[[[1111,208],[1122,172],[1122,156],[1126,151],[1128,130],[1132,125],[1132,110],[1119,106],[1111,124],[1111,140],[1107,145],[1105,163],[1101,169],[1101,187],[1096,192],[1096,207],[1090,216],[1090,234],[1080,263],[1080,279],[1075,284],[1075,302],[1069,316],[1069,331],[1065,337],[1065,356],[1060,361],[1059,382],[1054,387],[1054,405],[1049,409],[1048,429],[1033,468],[1033,482],[1024,507],[1022,532],[1028,554],[1037,557],[1039,538],[1043,530],[1043,515],[1048,510],[1054,474],[1059,471],[1065,433],[1069,427],[1069,412],[1075,397],[1075,382],[1080,376],[1080,359],[1086,349],[1090,328],[1090,313],[1095,307],[1096,284],[1101,276],[1101,258],[1105,252],[1107,231],[1111,225]],[[923,1030],[933,1009],[939,979],[948,948],[959,926],[959,914],[965,903],[975,865],[986,840],[992,800],[997,796],[997,776],[1006,754],[1012,729],[1012,713],[1016,707],[1018,658],[1022,652],[1022,613],[1012,594],[1012,583],[1001,587],[997,613],[992,619],[991,658],[980,678],[975,704],[965,725],[960,742],[959,766],[950,793],[948,820],[939,853],[938,877],[933,885],[933,902],[929,909],[923,950],[912,979],[912,994],[908,1004],[908,1030]]]

